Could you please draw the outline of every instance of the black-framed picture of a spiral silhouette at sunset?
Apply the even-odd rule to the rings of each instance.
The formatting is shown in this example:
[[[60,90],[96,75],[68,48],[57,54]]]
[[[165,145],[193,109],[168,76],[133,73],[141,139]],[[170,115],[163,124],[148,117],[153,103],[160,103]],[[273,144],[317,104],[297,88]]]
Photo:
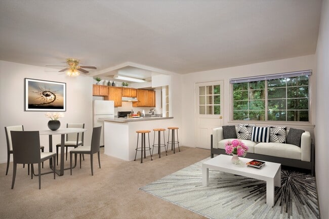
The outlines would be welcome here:
[[[66,111],[66,83],[25,78],[25,111]]]

